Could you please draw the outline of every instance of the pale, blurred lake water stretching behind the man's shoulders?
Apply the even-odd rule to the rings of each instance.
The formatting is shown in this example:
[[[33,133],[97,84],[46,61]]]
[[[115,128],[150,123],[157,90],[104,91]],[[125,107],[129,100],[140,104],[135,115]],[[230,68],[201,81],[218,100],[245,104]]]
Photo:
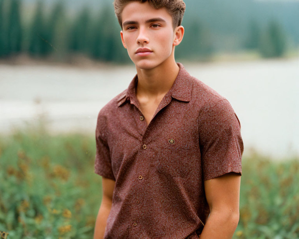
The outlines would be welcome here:
[[[254,149],[277,159],[299,155],[299,59],[184,66],[229,100],[241,122],[244,154]],[[93,134],[98,111],[134,75],[133,65],[0,64],[0,133],[43,118],[53,134]]]

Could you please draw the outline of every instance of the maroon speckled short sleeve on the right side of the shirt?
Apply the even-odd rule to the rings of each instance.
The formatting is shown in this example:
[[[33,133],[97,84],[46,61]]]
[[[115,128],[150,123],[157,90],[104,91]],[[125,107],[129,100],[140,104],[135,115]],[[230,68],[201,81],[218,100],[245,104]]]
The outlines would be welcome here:
[[[235,172],[242,174],[243,141],[240,122],[226,99],[199,114],[199,144],[204,180]]]

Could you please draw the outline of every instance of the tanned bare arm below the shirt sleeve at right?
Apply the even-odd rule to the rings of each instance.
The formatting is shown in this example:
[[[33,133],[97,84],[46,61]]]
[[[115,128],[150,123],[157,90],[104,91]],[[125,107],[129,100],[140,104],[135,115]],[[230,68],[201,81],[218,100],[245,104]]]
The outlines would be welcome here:
[[[200,239],[231,239],[239,222],[240,174],[228,173],[206,180],[210,216]]]

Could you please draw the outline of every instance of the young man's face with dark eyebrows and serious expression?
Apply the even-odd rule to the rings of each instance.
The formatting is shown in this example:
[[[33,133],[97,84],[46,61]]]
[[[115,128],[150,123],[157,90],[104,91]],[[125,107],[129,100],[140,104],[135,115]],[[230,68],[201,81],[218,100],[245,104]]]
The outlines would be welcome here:
[[[169,59],[176,30],[166,8],[155,9],[149,3],[132,2],[122,12],[123,46],[137,68],[152,69]]]

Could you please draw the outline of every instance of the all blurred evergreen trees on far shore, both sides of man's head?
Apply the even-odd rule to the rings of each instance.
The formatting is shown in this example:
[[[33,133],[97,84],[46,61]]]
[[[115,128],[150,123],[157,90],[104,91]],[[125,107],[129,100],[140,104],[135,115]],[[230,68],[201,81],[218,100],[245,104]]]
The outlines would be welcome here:
[[[33,16],[21,17],[21,0],[0,0],[0,57],[19,53],[33,57],[55,56],[64,60],[73,53],[101,61],[127,62],[129,57],[120,41],[118,22],[112,7],[98,13],[88,7],[70,16],[63,1],[45,11],[37,1]],[[185,21],[185,19],[184,19]],[[185,36],[176,56],[207,60],[215,51],[213,34],[198,18],[184,22]],[[244,48],[257,50],[263,57],[280,57],[286,51],[286,36],[275,21],[266,29],[251,21]]]

